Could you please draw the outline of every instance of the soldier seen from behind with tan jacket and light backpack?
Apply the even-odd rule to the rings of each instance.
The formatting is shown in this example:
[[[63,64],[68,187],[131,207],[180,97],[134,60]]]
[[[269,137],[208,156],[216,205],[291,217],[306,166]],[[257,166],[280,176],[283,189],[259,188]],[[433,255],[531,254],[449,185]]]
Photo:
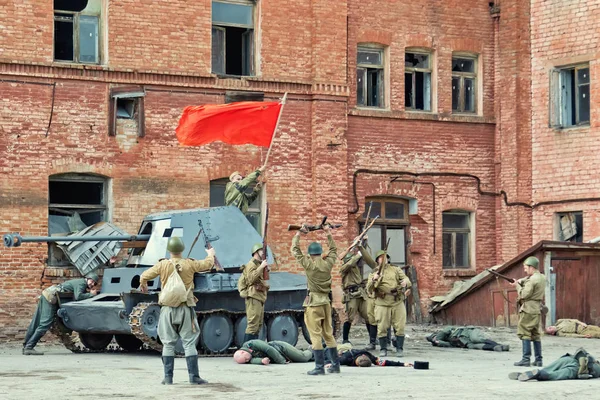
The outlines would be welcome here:
[[[158,303],[161,305],[158,320],[158,337],[163,344],[162,360],[164,364],[165,378],[163,385],[173,384],[173,369],[175,367],[175,344],[181,338],[185,351],[188,375],[190,383],[201,385],[207,383],[200,378],[198,372],[198,350],[196,342],[200,336],[200,327],[196,318],[196,298],[194,297],[194,274],[196,272],[209,271],[215,263],[215,250],[207,249],[207,257],[203,261],[191,258],[182,258],[181,253],[185,249],[183,241],[179,237],[172,237],[167,244],[170,253],[169,259],[162,259],[152,268],[144,271],[140,277],[140,290],[148,291],[148,281],[160,276],[160,285],[165,288],[172,274],[179,274],[187,289],[187,300],[179,305],[163,304],[159,296]]]

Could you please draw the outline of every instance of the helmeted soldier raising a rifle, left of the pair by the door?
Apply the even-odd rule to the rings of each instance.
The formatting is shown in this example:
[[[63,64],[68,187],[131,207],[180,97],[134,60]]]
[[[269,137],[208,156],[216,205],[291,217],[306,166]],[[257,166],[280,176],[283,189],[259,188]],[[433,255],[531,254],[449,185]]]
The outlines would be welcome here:
[[[340,275],[342,277],[342,288],[344,296],[342,303],[346,308],[346,321],[342,331],[343,343],[350,343],[348,335],[352,322],[357,315],[360,315],[366,322],[367,331],[371,334],[371,324],[368,315],[368,297],[365,290],[366,282],[363,280],[362,272],[358,267],[358,262],[361,259],[358,252],[358,248],[353,250],[354,254],[348,253],[344,257],[344,264],[340,269]],[[365,265],[367,265],[365,263]]]

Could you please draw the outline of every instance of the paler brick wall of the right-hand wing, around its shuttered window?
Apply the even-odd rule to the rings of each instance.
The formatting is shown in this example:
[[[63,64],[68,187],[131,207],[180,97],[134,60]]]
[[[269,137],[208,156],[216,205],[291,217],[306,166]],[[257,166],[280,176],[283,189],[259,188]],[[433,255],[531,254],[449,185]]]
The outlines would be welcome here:
[[[600,197],[600,4],[531,2],[533,200]],[[590,126],[549,128],[549,74],[589,62]],[[583,211],[584,240],[600,236],[600,201],[543,206],[534,212],[534,240],[555,237],[556,212]]]

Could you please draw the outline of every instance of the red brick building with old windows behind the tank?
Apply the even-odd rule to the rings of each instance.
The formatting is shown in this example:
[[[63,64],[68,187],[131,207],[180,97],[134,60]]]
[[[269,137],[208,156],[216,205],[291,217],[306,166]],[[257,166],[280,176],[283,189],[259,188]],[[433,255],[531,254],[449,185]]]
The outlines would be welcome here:
[[[10,2],[0,232],[78,215],[133,233],[150,212],[218,204],[266,149],[180,147],[183,107],[288,92],[253,208],[268,199],[279,268],[300,272],[288,223],[327,214],[346,244],[373,201],[371,246],[415,267],[426,306],[534,241],[600,235],[599,21],[597,0]],[[74,275],[46,244],[0,252],[0,337]]]

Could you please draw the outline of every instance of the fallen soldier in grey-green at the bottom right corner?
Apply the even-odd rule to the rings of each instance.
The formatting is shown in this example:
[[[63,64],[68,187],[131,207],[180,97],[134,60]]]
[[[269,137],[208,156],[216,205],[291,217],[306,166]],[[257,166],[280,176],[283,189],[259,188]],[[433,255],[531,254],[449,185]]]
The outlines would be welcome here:
[[[600,377],[600,363],[582,347],[575,354],[565,354],[543,369],[525,372],[511,372],[509,379],[526,382],[562,381],[566,379],[590,379]]]

